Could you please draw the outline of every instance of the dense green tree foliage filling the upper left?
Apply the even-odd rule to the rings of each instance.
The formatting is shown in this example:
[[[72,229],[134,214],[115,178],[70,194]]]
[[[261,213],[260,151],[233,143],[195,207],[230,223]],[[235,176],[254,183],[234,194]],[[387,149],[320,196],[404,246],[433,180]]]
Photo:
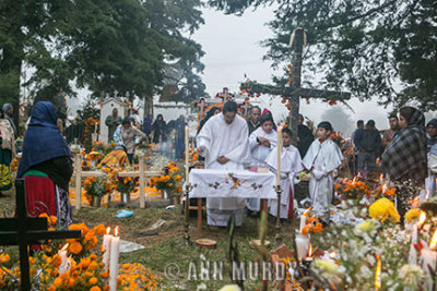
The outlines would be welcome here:
[[[168,61],[180,64],[184,92],[203,92],[203,51],[189,38],[203,23],[200,7],[200,0],[1,1],[0,101],[17,99],[27,68],[32,76],[22,85],[31,96],[74,95],[75,85],[94,96],[150,98]]]

